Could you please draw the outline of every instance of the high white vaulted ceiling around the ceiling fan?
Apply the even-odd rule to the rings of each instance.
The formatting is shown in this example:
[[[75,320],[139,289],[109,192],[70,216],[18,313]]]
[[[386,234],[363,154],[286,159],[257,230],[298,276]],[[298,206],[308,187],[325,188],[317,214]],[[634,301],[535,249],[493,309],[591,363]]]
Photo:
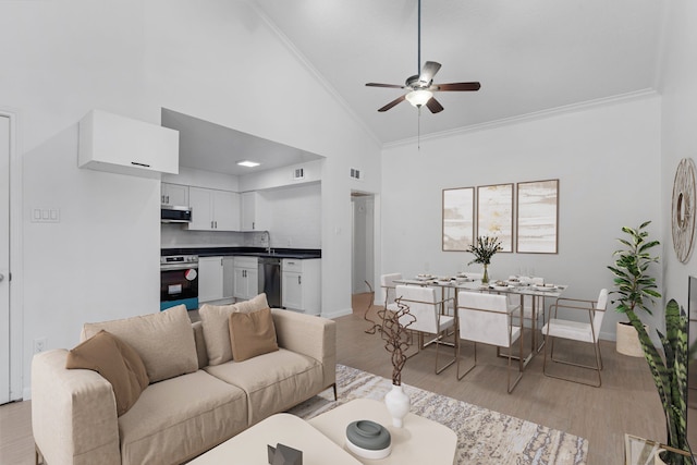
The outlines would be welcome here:
[[[417,0],[250,0],[383,143],[416,137],[418,111],[378,108],[417,74]],[[437,93],[420,134],[656,90],[665,0],[421,0],[421,61],[436,83],[478,81],[476,93]],[[321,109],[318,109],[321,111]]]

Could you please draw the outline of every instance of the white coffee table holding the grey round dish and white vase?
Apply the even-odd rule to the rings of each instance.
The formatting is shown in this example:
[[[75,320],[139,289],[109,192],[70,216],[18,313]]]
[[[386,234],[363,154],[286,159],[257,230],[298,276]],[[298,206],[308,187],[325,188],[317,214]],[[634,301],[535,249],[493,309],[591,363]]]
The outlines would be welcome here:
[[[392,436],[392,453],[380,460],[357,457],[365,464],[452,465],[453,463],[457,435],[452,429],[414,414],[406,415],[403,428],[395,428],[392,426],[392,418],[384,402],[357,399],[318,415],[308,423],[347,452],[346,426],[359,419],[376,421],[384,426]]]

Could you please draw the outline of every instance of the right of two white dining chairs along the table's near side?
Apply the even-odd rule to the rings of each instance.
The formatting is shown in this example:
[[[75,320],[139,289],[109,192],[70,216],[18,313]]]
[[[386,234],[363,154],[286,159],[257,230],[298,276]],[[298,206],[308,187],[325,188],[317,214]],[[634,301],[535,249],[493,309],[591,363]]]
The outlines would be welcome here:
[[[525,365],[530,356],[523,357],[523,332],[519,326],[513,325],[514,317],[521,318],[521,306],[510,305],[505,295],[460,291],[457,293],[457,327],[460,343],[457,344],[457,380],[461,380],[477,366],[477,343],[505,347],[508,354],[508,392],[517,386],[523,377]],[[460,351],[462,341],[474,343],[474,364],[464,374],[460,374]],[[518,346],[518,355],[513,355],[514,345]],[[512,359],[518,360],[518,375],[511,382]]]

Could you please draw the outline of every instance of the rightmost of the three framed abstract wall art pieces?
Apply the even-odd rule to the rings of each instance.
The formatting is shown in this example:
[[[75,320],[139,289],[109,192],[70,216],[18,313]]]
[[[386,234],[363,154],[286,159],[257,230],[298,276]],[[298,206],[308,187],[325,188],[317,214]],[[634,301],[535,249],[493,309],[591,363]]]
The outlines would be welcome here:
[[[516,252],[557,254],[559,232],[559,180],[517,185]]]

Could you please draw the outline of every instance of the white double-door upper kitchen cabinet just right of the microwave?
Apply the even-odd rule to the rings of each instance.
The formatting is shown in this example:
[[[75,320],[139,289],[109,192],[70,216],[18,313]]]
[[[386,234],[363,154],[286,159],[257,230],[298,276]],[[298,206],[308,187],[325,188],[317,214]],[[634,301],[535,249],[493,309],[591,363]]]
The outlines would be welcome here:
[[[188,205],[194,231],[240,231],[240,194],[213,188],[189,187]]]

